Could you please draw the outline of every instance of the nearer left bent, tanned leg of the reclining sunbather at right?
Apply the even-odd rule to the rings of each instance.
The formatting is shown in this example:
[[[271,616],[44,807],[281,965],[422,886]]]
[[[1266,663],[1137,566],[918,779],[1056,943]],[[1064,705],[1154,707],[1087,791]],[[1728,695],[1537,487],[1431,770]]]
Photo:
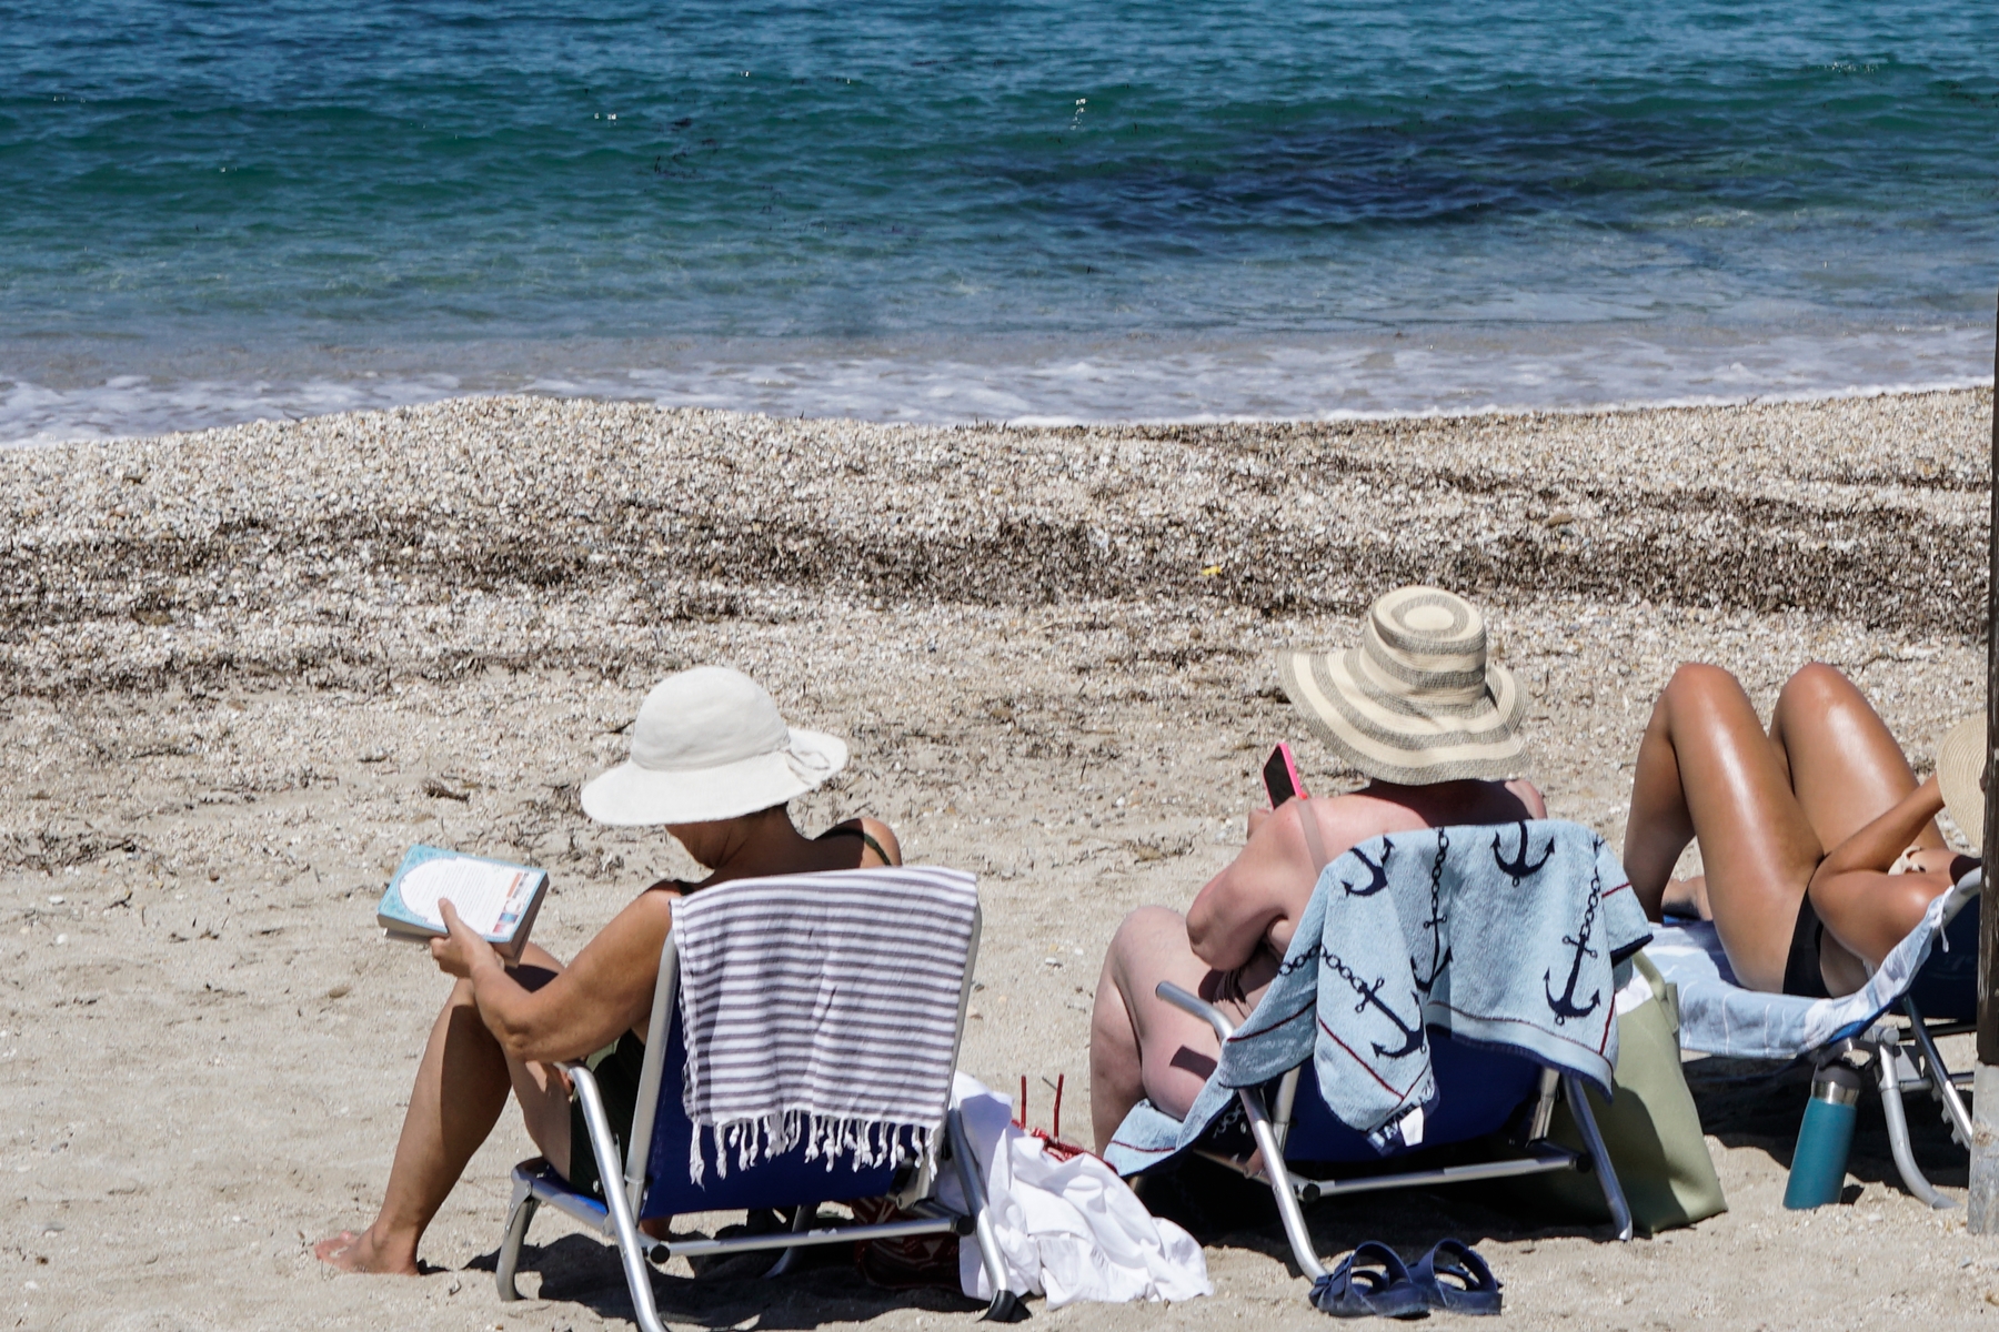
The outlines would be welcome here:
[[[1647,915],[1693,837],[1735,977],[1781,989],[1797,905],[1825,851],[1749,695],[1709,665],[1673,673],[1637,751],[1623,863]]]

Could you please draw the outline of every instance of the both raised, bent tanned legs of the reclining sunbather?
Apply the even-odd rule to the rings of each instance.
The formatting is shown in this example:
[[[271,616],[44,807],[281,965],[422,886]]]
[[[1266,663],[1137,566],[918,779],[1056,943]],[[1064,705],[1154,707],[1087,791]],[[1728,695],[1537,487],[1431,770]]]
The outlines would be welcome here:
[[[1647,915],[1695,837],[1705,899],[1743,985],[1783,987],[1797,909],[1827,849],[1915,791],[1901,745],[1845,675],[1807,665],[1777,697],[1769,731],[1733,675],[1683,665],[1653,707],[1637,751],[1623,861]],[[1917,845],[1943,847],[1935,825]],[[1859,963],[1837,939],[1867,933],[1869,903],[1821,903],[1827,981]]]

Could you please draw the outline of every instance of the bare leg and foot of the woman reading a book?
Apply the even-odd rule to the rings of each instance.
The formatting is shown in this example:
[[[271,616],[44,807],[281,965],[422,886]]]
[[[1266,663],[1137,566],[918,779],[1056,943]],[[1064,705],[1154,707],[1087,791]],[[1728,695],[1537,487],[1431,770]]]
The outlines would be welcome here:
[[[534,961],[560,969],[534,951]],[[416,1274],[416,1246],[424,1228],[458,1184],[466,1162],[506,1108],[508,1090],[520,1094],[528,1132],[558,1170],[570,1162],[568,1084],[546,1064],[518,1064],[480,1018],[472,983],[460,981],[430,1028],[416,1086],[402,1118],[396,1158],[388,1170],[382,1210],[360,1234],[342,1230],[314,1244],[322,1262],[348,1272]],[[560,1154],[560,1158],[558,1158]]]

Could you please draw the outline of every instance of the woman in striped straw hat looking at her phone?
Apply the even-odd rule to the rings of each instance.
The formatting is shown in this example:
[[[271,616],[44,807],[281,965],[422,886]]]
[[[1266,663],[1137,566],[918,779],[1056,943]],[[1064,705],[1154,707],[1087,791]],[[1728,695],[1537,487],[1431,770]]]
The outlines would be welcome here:
[[[1277,973],[1319,869],[1383,833],[1545,819],[1521,767],[1519,683],[1485,659],[1485,619],[1435,587],[1399,587],[1367,611],[1347,653],[1279,653],[1305,725],[1369,781],[1353,795],[1291,799],[1249,815],[1235,861],[1187,915],[1139,907],[1111,939],[1089,1018],[1097,1148],[1139,1098],[1185,1116],[1221,1044],[1161,1000],[1171,981],[1239,1022]]]

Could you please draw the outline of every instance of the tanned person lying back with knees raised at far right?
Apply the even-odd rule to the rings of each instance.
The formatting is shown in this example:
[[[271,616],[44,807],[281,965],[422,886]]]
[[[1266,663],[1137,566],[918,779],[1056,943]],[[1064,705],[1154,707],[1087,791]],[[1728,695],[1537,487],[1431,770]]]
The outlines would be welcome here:
[[[1969,745],[1967,745],[1969,741]],[[1631,781],[1623,865],[1645,913],[1709,917],[1755,991],[1851,995],[1967,869],[1935,817],[1985,825],[1985,719],[1945,741],[1915,781],[1901,745],[1845,675],[1813,663],[1777,695],[1765,733],[1713,665],[1683,665],[1651,709]],[[1969,763],[1947,763],[1965,751]],[[1699,839],[1701,879],[1671,879]]]

